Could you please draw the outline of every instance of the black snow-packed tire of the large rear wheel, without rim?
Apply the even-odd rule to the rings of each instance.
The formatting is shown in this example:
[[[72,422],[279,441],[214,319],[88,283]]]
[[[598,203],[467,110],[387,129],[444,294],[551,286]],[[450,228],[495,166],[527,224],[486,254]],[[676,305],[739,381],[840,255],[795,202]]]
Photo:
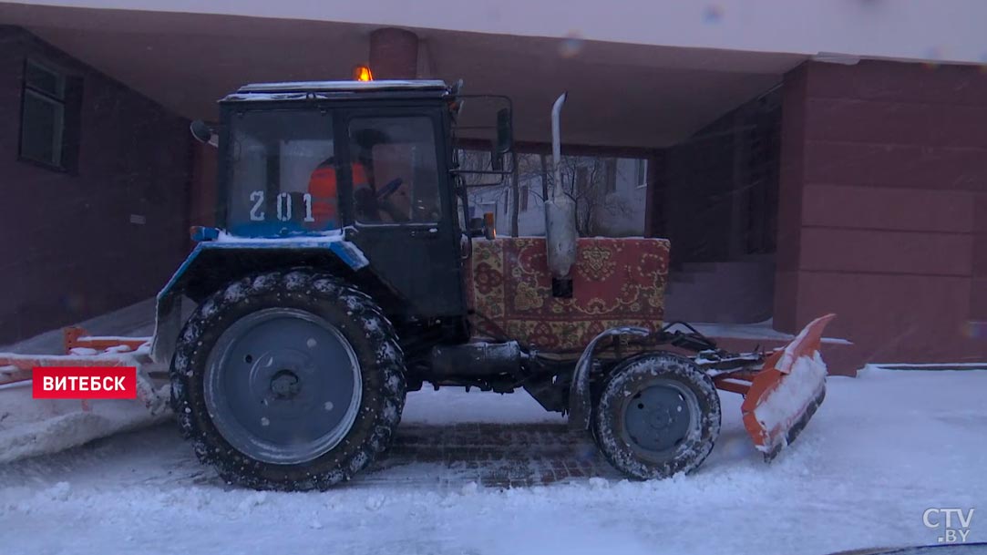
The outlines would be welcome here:
[[[201,395],[205,359],[235,315],[278,299],[299,305],[306,298],[312,299],[313,312],[333,312],[333,305],[339,311],[341,332],[360,361],[362,406],[353,427],[329,452],[301,464],[267,464],[238,451],[212,426]],[[342,279],[305,268],[235,279],[200,303],[179,335],[171,380],[172,408],[198,459],[215,467],[226,482],[258,490],[326,490],[349,480],[387,449],[407,391],[404,354],[381,308]]]

